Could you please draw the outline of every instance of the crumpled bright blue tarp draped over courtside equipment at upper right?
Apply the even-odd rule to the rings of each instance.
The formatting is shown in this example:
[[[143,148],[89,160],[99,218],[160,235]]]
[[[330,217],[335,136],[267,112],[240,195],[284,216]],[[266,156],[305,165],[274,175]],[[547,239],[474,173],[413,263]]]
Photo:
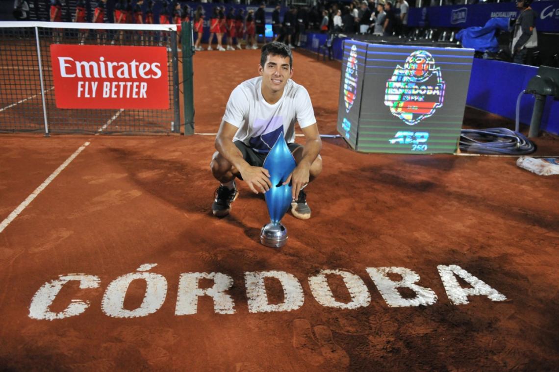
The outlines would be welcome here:
[[[458,31],[456,40],[462,42],[465,48],[472,48],[475,51],[499,51],[496,31],[508,31],[510,18],[491,18],[483,27],[468,27]]]

